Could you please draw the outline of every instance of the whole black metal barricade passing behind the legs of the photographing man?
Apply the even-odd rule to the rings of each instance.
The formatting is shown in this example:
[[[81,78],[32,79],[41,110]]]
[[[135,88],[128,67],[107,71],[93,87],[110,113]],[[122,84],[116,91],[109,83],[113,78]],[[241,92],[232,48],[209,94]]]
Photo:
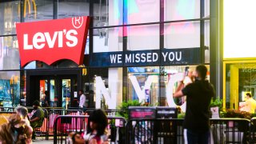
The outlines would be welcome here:
[[[182,123],[183,119],[177,118],[132,119],[126,125],[126,143],[186,143]],[[210,119],[210,144],[222,143],[255,143],[251,141],[250,120]]]

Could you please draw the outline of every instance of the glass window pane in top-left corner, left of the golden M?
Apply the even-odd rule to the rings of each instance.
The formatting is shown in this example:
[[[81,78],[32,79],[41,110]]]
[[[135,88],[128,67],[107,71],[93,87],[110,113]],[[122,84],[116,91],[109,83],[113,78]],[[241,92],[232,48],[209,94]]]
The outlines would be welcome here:
[[[20,1],[0,2],[0,35],[16,34],[15,23],[20,22]]]

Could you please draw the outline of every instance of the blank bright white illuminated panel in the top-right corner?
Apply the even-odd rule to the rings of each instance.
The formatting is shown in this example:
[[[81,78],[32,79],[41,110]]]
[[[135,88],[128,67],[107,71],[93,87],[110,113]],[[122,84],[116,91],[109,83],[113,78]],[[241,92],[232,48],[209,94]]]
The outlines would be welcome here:
[[[224,58],[256,58],[256,0],[224,0]]]

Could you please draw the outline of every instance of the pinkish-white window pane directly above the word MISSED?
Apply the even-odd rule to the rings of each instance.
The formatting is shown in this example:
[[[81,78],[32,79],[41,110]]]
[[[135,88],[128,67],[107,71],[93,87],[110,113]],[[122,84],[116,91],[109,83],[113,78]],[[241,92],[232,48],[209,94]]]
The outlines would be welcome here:
[[[127,26],[127,50],[159,49],[159,25]]]

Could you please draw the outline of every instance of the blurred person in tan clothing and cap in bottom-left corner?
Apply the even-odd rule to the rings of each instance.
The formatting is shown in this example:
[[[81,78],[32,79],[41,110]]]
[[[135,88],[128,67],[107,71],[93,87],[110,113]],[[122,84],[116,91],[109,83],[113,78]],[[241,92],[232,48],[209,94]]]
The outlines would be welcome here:
[[[0,143],[31,143],[32,129],[21,114],[11,114],[8,122],[0,126]]]

